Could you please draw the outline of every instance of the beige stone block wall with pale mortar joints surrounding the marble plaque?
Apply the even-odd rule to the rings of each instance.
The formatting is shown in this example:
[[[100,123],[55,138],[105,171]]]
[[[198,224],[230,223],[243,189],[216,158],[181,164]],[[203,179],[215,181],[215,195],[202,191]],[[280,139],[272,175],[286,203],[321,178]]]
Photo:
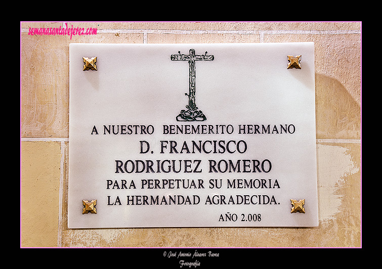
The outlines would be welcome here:
[[[361,247],[361,22],[21,23],[21,247]],[[317,228],[68,229],[69,43],[315,42]]]

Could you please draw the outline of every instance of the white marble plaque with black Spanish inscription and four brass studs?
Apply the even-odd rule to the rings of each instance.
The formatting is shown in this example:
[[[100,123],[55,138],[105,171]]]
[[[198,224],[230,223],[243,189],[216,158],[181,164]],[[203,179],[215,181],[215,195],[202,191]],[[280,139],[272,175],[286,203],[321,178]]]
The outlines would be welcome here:
[[[314,43],[69,60],[69,228],[318,226]]]

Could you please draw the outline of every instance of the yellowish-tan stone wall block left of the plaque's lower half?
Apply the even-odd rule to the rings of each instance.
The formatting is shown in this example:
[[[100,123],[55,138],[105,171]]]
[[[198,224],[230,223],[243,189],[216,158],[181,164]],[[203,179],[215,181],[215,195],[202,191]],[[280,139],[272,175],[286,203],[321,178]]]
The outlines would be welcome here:
[[[60,143],[21,144],[21,246],[57,246]]]

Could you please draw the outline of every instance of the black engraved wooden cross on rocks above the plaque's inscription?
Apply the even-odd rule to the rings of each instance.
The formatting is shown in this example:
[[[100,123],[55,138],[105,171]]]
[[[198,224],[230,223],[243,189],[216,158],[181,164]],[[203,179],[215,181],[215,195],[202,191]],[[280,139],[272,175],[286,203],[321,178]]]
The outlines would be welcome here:
[[[190,78],[189,78],[189,92],[185,94],[188,96],[188,105],[186,105],[187,110],[181,110],[181,113],[177,116],[177,121],[204,121],[206,117],[201,110],[197,110],[198,107],[195,104],[195,61],[213,61],[214,55],[195,55],[195,50],[191,49],[189,55],[172,54],[172,61],[188,61]]]

